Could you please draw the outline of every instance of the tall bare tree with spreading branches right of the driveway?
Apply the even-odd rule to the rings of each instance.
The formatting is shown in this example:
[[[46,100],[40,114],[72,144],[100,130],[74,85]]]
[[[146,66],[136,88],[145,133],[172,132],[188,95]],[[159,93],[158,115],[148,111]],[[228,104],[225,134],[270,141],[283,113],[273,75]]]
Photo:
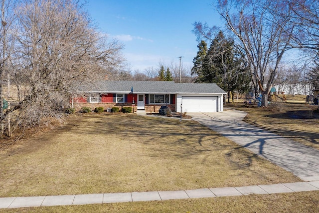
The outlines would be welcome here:
[[[218,0],[217,11],[225,20],[228,30],[235,36],[239,48],[246,54],[255,92],[263,94],[262,106],[272,88],[284,53],[291,48],[294,28],[290,17],[274,15],[270,10],[290,13],[288,5],[280,0]],[[217,33],[216,27],[196,22],[194,32],[210,38]],[[266,79],[268,76],[268,79]]]

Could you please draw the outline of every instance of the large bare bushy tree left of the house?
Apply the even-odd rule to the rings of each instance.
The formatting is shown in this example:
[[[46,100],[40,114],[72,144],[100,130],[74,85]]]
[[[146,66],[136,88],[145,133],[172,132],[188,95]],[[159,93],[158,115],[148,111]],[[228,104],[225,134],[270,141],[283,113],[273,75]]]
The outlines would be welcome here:
[[[15,128],[61,120],[76,85],[101,78],[123,60],[123,45],[99,33],[76,0],[21,0],[14,11],[17,42],[11,61],[18,103],[2,120],[15,111]]]

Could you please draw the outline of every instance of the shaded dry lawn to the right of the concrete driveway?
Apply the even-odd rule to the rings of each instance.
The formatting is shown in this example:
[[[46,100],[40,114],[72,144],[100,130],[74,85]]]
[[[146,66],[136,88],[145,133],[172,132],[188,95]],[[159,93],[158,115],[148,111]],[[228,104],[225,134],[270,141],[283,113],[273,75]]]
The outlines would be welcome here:
[[[282,111],[244,104],[228,104],[226,107],[247,112],[244,119],[247,123],[319,149],[319,113],[314,112],[318,106],[292,102],[282,104]]]

